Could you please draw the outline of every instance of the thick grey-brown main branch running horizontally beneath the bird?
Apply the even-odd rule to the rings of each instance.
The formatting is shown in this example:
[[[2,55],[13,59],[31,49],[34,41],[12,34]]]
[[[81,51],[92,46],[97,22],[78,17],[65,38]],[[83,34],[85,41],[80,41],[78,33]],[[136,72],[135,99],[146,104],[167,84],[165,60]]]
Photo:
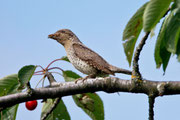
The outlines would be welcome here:
[[[0,97],[0,108],[6,108],[18,103],[34,99],[57,98],[59,96],[69,96],[87,92],[104,91],[107,93],[130,92],[152,94],[157,97],[161,89],[159,86],[164,85],[163,95],[180,94],[180,81],[149,81],[142,80],[141,86],[135,86],[131,80],[123,80],[117,77],[87,79],[84,82],[65,82],[54,83],[52,87],[34,89],[32,94],[28,92],[16,93]],[[57,87],[58,86],[58,87]]]

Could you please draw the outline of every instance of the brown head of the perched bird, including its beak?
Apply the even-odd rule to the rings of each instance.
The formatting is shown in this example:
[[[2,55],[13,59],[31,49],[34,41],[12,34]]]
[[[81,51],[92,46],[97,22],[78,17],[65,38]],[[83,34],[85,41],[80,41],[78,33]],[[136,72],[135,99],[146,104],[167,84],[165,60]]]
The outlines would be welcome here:
[[[48,35],[48,38],[52,38],[52,39],[58,41],[63,46],[68,41],[72,41],[74,37],[76,37],[75,34],[71,30],[69,30],[69,29],[58,30],[54,34]]]

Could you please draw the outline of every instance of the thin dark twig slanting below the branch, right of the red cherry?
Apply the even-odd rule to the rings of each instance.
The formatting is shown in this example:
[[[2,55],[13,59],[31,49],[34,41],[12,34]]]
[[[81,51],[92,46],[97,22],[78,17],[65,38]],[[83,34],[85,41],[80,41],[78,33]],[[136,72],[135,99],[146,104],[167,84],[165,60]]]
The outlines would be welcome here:
[[[60,102],[61,97],[60,98],[56,98],[54,100],[53,105],[51,106],[51,108],[41,117],[41,120],[46,120],[46,118],[52,113],[52,111],[57,107],[58,103]]]

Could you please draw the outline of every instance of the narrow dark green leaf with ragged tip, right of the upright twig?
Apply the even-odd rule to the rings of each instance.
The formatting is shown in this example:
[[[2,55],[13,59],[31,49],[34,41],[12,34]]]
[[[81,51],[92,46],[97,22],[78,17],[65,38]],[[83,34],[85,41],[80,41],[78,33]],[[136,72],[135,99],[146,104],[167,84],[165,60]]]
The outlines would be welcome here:
[[[161,29],[156,41],[156,46],[155,46],[155,53],[154,53],[154,57],[155,57],[155,61],[156,61],[156,67],[159,68],[161,66],[161,64],[163,64],[163,70],[166,70],[166,67],[168,65],[169,62],[169,58],[171,53],[168,52],[166,50],[165,47],[165,33],[167,30],[167,25],[170,21],[170,19],[172,18],[173,14],[169,14],[168,16],[166,16],[166,18],[164,19],[162,25],[161,25]]]

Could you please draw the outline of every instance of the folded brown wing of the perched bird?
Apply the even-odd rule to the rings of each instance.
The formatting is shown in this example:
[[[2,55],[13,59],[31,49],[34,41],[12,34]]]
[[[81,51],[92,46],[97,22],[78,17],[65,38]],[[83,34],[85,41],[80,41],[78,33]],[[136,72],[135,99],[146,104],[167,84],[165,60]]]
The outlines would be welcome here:
[[[109,69],[109,63],[107,63],[96,52],[92,51],[91,49],[89,49],[86,46],[79,44],[79,43],[74,43],[73,49],[75,51],[75,54],[81,60],[86,61],[91,66],[95,67],[96,69],[98,69],[104,73],[114,75],[114,73]]]

